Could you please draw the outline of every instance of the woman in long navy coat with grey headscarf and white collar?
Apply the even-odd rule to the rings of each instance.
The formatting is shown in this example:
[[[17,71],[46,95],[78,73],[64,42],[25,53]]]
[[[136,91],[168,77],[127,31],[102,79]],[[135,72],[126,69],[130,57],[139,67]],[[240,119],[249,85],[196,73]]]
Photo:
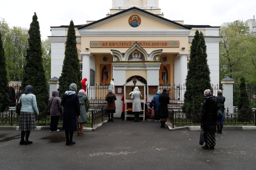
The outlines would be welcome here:
[[[76,94],[77,85],[72,83],[69,90],[63,94],[61,106],[63,106],[63,128],[65,129],[66,145],[73,145],[73,133],[77,130],[77,120],[80,118],[79,98]]]

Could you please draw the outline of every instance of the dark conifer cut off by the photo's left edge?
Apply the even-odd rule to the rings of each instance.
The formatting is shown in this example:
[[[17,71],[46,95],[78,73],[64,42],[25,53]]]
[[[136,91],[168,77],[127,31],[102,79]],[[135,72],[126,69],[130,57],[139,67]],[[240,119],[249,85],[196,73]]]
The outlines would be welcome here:
[[[0,31],[0,112],[4,112],[8,108],[9,100],[9,88],[7,86],[7,71],[4,56],[4,47],[2,41],[2,34]]]

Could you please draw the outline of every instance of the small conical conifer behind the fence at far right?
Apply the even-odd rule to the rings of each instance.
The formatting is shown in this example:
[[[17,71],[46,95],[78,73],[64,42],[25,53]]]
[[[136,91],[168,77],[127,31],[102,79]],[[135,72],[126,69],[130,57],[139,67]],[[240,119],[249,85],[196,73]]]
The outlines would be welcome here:
[[[239,90],[238,119],[241,122],[248,122],[253,120],[253,114],[244,77],[240,79]]]

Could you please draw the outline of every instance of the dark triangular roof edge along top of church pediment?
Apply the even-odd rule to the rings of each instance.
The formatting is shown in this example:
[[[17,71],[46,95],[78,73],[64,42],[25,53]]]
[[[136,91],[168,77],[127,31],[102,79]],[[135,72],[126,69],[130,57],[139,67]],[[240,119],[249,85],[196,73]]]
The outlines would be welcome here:
[[[135,6],[132,7],[132,8],[129,8],[129,9],[127,9],[127,10],[120,11],[120,12],[117,12],[117,13],[115,13],[115,14],[112,14],[112,15],[110,15],[110,16],[108,16],[108,17],[102,18],[102,19],[100,19],[100,20],[98,20],[98,21],[94,21],[94,22],[92,22],[92,23],[90,23],[90,24],[86,24],[86,25],[84,25],[84,26],[78,27],[77,29],[86,28],[87,26],[91,26],[91,25],[93,25],[93,24],[96,24],[96,23],[98,23],[98,22],[104,21],[104,20],[109,19],[109,18],[113,18],[113,17],[115,17],[115,16],[117,16],[117,15],[120,15],[120,14],[122,14],[122,13],[124,13],[124,12],[128,12],[128,11],[131,11],[131,10],[141,11],[141,12],[144,12],[144,13],[146,13],[146,14],[148,14],[148,15],[154,16],[154,17],[156,17],[156,18],[163,19],[163,20],[165,20],[166,22],[169,22],[169,23],[172,23],[172,24],[181,26],[181,27],[186,28],[186,29],[191,29],[191,27],[189,27],[189,26],[182,25],[182,24],[180,24],[180,23],[174,22],[174,21],[169,20],[169,19],[166,19],[166,18],[164,18],[164,17],[160,17],[160,16],[158,16],[158,15],[156,15],[156,14],[153,14],[153,13],[151,13],[151,12],[142,10],[142,9],[137,8],[137,7],[135,7]]]

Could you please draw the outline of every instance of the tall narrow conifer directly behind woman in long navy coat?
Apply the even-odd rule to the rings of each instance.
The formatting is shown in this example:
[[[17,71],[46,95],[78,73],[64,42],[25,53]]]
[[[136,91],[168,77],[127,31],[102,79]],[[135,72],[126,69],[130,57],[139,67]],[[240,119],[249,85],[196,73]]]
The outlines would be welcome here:
[[[59,78],[59,92],[62,96],[68,90],[71,83],[76,83],[77,89],[81,89],[81,72],[76,48],[76,32],[73,21],[70,21],[65,47],[65,57],[62,72]]]

